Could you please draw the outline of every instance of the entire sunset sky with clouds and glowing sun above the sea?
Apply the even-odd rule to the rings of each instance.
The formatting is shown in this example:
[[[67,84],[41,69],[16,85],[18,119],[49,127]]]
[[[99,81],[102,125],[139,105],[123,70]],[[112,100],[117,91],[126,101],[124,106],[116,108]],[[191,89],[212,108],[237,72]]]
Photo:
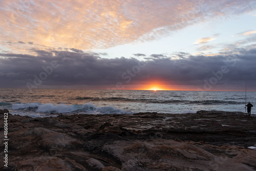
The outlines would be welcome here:
[[[256,91],[256,1],[0,0],[0,88]]]

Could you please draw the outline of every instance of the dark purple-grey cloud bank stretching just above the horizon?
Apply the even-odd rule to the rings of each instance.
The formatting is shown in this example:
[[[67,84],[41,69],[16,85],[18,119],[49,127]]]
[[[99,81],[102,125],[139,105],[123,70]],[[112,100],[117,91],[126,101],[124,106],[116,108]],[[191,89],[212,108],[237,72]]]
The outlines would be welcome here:
[[[218,85],[242,89],[245,80],[250,81],[250,86],[256,86],[256,49],[240,49],[236,54],[190,55],[179,59],[158,57],[146,61],[125,57],[101,58],[97,53],[35,52],[36,56],[0,54],[1,88],[72,88],[79,85],[107,88],[117,83],[124,86],[146,84],[155,79],[166,84],[195,86],[205,90]]]

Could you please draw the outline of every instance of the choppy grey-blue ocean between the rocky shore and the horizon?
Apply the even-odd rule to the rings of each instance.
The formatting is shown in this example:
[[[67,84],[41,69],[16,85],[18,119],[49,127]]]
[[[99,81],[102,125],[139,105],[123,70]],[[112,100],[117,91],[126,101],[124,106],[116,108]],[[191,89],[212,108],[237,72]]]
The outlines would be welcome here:
[[[49,117],[58,114],[196,113],[201,110],[245,112],[245,92],[0,89],[0,109],[11,114]],[[256,92],[246,101],[256,108]],[[253,114],[252,107],[252,114]],[[256,109],[255,109],[256,111]]]

